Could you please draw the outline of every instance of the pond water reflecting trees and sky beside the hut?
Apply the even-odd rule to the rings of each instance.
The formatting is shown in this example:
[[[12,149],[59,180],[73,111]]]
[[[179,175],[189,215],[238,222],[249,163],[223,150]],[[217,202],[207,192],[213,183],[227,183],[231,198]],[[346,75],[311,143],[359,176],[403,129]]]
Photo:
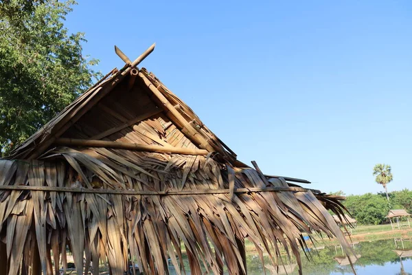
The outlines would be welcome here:
[[[316,249],[312,248],[310,251],[312,255],[311,261],[308,261],[304,252],[301,252],[304,274],[353,274],[349,260],[343,256],[340,246],[324,246],[320,244],[317,246]],[[351,260],[358,275],[412,275],[412,239],[359,242],[354,243],[353,248],[358,259],[353,257]],[[268,256],[265,256],[264,259],[266,274],[277,274],[268,260]],[[286,266],[287,274],[299,274],[298,268],[296,262],[292,259],[292,262]],[[264,274],[262,263],[257,253],[247,253],[247,270],[249,275]],[[187,272],[187,274],[189,273]],[[228,274],[227,270],[225,274]],[[286,274],[282,267],[279,274]]]

